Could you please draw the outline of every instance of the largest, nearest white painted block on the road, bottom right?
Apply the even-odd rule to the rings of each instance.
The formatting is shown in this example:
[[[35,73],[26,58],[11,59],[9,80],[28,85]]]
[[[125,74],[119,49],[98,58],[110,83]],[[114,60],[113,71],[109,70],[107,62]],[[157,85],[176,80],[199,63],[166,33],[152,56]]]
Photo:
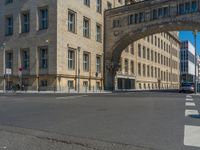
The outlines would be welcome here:
[[[200,147],[200,127],[185,125],[184,145]]]

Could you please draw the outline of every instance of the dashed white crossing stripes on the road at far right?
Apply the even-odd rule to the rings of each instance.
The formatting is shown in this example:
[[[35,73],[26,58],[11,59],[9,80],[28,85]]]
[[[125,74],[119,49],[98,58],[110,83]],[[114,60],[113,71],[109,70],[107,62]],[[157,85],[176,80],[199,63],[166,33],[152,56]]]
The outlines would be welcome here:
[[[191,95],[186,96],[185,102],[185,117],[199,116],[199,111],[196,107],[194,99]],[[185,125],[184,127],[184,145],[200,147],[200,126]]]

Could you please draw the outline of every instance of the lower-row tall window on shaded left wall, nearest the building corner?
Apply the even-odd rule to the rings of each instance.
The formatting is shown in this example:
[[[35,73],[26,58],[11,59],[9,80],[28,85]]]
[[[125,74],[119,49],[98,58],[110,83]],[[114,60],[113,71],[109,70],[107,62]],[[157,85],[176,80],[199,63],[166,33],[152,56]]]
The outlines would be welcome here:
[[[40,48],[40,68],[48,68],[48,49],[46,47]]]

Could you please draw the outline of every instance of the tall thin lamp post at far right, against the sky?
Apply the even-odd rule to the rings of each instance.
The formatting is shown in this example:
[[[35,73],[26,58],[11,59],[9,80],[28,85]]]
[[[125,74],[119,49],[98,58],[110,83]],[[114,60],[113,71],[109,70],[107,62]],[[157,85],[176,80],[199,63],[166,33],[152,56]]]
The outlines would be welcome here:
[[[193,31],[195,48],[195,94],[197,94],[197,30]]]

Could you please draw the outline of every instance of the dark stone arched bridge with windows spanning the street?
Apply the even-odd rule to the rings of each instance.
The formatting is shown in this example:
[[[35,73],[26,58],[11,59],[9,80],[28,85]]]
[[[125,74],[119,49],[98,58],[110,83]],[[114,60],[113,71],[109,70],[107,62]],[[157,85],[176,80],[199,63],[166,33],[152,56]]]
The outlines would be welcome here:
[[[105,89],[114,90],[121,53],[129,44],[151,34],[179,30],[200,30],[200,0],[148,0],[106,11]]]

